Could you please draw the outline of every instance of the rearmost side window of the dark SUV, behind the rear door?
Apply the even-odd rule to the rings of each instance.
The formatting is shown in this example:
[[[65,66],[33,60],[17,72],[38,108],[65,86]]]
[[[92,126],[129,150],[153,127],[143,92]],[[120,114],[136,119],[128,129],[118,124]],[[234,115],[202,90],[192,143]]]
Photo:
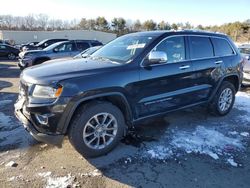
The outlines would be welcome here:
[[[214,45],[215,56],[233,55],[234,51],[225,39],[211,38]]]

